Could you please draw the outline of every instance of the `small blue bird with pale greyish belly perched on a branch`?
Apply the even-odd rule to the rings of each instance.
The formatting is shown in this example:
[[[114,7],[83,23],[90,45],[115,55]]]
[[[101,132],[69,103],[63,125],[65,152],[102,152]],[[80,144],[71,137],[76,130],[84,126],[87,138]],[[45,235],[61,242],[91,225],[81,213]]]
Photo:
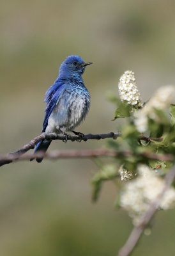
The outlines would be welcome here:
[[[45,93],[45,118],[42,132],[66,134],[73,131],[86,117],[90,106],[90,95],[84,86],[82,74],[92,62],[84,62],[80,56],[68,56],[59,68],[59,76]],[[46,152],[51,141],[39,141],[34,152]],[[31,159],[33,160],[33,159]],[[43,157],[36,158],[38,163]]]

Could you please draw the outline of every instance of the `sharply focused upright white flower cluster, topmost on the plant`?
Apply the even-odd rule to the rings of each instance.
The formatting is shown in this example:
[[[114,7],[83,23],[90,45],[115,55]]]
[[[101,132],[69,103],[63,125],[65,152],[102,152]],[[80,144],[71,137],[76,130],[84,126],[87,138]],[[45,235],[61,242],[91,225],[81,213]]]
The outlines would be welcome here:
[[[142,106],[141,96],[135,83],[134,73],[130,70],[125,71],[119,79],[119,96],[121,101],[127,102],[137,108]]]

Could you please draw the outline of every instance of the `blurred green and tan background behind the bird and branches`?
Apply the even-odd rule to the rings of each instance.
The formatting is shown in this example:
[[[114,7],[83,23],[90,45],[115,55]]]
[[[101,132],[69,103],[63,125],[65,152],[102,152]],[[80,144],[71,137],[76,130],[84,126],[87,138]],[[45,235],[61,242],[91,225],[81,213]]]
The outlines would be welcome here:
[[[70,54],[93,61],[84,81],[91,109],[79,131],[116,131],[114,106],[119,76],[133,70],[143,100],[159,86],[175,84],[175,4],[172,0],[1,0],[0,153],[20,148],[40,134],[43,96]],[[54,148],[98,148],[105,141]],[[0,255],[116,255],[132,230],[114,207],[116,188],[105,184],[91,202],[90,159],[21,162],[0,172]],[[151,236],[133,255],[174,255],[175,210],[158,212]]]

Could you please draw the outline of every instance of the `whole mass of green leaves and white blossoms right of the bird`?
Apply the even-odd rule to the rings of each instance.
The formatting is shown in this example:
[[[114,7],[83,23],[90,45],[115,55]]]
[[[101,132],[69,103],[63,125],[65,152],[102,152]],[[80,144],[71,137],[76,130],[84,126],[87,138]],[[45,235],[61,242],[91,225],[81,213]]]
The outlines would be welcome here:
[[[175,86],[159,88],[144,106],[141,104],[141,107],[135,100],[135,95],[139,95],[139,92],[134,85],[136,93],[133,93],[135,78],[133,72],[130,71],[130,73],[132,73],[132,81],[124,77],[122,82],[121,79],[119,82],[121,102],[115,97],[110,97],[111,101],[117,105],[114,120],[125,117],[126,122],[121,126],[121,141],[113,141],[109,144],[109,147],[116,151],[116,157],[114,157],[116,163],[110,164],[110,168],[109,165],[106,167],[102,165],[101,172],[93,178],[93,199],[98,199],[105,180],[120,179],[124,182],[124,186],[122,184],[121,188],[118,186],[118,193],[121,196],[118,196],[117,205],[128,211],[133,224],[138,225],[148,211],[149,205],[156,200],[164,188],[162,177],[175,163],[174,104],[169,107],[171,100],[175,102]],[[122,90],[122,88],[125,89]],[[134,104],[131,104],[131,99]],[[144,131],[147,136],[144,133],[140,134],[140,131]],[[119,143],[125,144],[124,151],[119,147]],[[171,156],[171,159],[162,160],[161,156]],[[175,185],[174,182],[173,185]],[[175,206],[173,187],[167,189],[158,206],[164,210]]]

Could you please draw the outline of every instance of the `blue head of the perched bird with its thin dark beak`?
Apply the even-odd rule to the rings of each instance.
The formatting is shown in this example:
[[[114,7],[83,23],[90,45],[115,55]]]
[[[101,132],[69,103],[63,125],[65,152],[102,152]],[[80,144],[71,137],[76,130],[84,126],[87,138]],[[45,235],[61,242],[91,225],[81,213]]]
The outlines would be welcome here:
[[[59,74],[67,76],[81,76],[86,66],[92,62],[84,62],[80,56],[68,56],[60,66]]]

